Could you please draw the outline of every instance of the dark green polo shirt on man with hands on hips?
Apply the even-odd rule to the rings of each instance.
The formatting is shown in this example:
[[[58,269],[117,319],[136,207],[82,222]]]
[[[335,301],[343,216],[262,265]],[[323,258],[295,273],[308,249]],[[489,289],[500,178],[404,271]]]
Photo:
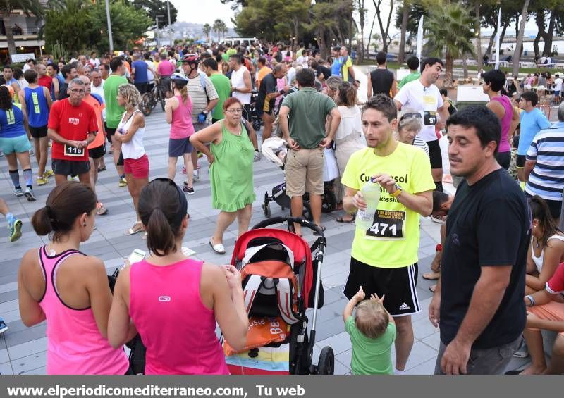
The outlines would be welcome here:
[[[325,120],[336,104],[312,87],[288,95],[281,106],[290,108],[290,137],[300,148],[314,149],[326,137]]]

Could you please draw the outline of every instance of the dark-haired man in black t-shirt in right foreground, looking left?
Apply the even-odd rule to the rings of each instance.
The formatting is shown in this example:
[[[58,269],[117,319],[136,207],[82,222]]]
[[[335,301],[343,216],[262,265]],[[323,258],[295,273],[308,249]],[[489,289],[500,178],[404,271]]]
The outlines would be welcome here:
[[[448,212],[429,305],[441,327],[435,373],[503,374],[525,328],[529,207],[496,161],[501,125],[492,111],[470,106],[446,125],[450,173],[465,180]]]

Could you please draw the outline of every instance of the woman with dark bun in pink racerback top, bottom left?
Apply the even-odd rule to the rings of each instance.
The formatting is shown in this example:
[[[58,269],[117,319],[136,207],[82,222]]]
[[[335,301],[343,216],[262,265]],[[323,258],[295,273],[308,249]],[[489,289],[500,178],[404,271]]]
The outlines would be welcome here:
[[[129,369],[123,347],[107,340],[111,292],[104,263],[79,251],[95,214],[92,189],[65,182],[32,218],[35,232],[49,234],[51,242],[23,256],[18,299],[24,325],[47,319],[49,375],[123,375]]]

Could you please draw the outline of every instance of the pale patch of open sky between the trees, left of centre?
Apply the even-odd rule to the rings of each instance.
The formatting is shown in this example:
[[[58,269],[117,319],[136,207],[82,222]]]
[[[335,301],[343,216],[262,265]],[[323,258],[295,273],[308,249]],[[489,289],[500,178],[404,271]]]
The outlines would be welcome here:
[[[221,19],[228,27],[233,27],[233,11],[229,4],[219,0],[170,0],[178,10],[176,19],[189,23],[209,23]]]

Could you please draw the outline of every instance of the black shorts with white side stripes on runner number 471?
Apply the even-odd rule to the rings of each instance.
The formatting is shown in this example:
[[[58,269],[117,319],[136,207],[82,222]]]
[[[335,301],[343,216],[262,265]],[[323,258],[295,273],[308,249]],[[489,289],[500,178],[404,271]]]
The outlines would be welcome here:
[[[378,268],[351,257],[350,271],[343,293],[352,299],[360,286],[366,294],[386,295],[384,307],[391,316],[405,316],[421,311],[417,298],[417,263],[401,268]]]

